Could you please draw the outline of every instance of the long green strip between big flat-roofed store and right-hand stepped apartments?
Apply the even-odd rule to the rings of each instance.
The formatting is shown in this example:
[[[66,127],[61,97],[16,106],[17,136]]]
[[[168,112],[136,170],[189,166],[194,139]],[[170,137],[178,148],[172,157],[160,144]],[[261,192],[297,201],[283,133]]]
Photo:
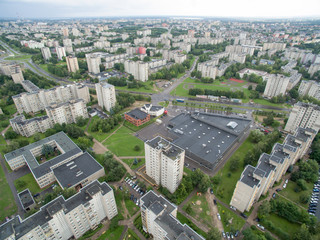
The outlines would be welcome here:
[[[227,161],[222,169],[216,174],[221,178],[220,183],[217,186],[214,186],[213,191],[215,192],[216,196],[226,204],[229,204],[233,195],[234,188],[237,184],[237,181],[240,178],[240,175],[243,171],[243,158],[247,151],[252,149],[254,144],[251,143],[250,139],[247,138],[242,145],[237,149],[237,151],[232,155],[232,157]],[[233,158],[240,159],[240,167],[238,170],[234,172],[230,172],[230,160]],[[229,175],[229,173],[231,175]],[[229,176],[228,176],[229,175]]]

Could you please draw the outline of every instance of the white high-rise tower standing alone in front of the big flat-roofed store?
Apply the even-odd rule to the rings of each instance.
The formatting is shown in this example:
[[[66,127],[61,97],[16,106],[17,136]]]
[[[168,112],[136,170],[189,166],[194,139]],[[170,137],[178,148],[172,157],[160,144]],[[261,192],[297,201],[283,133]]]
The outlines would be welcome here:
[[[174,193],[183,177],[185,151],[159,136],[144,146],[147,175]]]

